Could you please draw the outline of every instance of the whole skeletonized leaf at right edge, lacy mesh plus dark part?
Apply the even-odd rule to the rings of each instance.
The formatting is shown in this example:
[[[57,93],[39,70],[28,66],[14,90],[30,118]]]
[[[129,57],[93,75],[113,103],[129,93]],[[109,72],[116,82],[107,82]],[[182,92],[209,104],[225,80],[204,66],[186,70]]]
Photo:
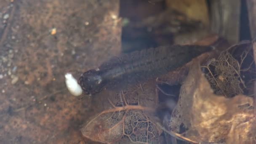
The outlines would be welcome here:
[[[215,94],[227,97],[248,94],[252,80],[255,79],[251,42],[244,41],[229,47],[217,59],[203,66],[203,69]]]

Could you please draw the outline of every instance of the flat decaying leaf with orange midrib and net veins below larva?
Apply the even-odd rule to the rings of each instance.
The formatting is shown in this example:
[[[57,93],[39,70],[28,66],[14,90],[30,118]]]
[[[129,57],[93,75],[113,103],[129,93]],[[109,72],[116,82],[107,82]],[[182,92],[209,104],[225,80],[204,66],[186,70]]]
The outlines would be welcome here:
[[[156,92],[153,80],[120,92],[104,91],[97,97],[104,111],[85,124],[83,136],[107,144],[128,140],[143,144],[160,143],[162,130],[152,115],[158,103]]]

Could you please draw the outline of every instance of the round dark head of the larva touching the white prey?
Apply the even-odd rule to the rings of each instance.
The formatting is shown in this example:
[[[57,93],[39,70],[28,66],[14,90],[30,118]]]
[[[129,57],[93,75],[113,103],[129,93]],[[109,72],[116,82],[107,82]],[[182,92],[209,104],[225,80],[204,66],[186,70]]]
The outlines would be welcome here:
[[[81,85],[84,93],[88,95],[99,93],[104,87],[99,71],[94,69],[83,73],[79,78],[78,83]]]

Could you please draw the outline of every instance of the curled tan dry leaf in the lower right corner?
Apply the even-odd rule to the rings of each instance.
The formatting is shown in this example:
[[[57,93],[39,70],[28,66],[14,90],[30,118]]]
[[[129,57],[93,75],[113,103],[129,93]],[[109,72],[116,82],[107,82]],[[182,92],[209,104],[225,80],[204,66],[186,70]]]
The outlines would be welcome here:
[[[213,94],[210,84],[199,68],[192,65],[169,128],[197,142],[255,143],[253,99],[244,95],[233,98]]]

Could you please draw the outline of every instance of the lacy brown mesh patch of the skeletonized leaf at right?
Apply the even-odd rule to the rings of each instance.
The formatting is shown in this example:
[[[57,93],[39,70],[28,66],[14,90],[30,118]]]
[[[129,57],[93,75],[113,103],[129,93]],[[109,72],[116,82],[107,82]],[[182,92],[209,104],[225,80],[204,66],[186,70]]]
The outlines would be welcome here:
[[[211,67],[214,67],[215,74],[211,72]],[[208,70],[207,79],[216,94],[231,97],[243,93],[240,64],[230,53],[221,53],[217,60],[213,59],[205,68]]]

